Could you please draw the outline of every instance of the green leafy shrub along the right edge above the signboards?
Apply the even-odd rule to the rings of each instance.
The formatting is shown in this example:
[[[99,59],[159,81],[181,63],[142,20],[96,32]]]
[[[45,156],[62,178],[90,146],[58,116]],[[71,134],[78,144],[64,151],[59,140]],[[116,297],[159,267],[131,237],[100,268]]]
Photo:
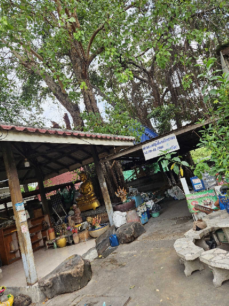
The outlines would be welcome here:
[[[229,178],[229,73],[219,75],[219,70],[214,71],[215,61],[215,58],[205,59],[203,73],[199,75],[205,78],[202,92],[206,103],[205,112],[211,121],[209,125],[203,126],[199,146],[211,152],[210,161],[214,162],[214,166],[209,168],[206,163],[198,163],[194,174],[201,178],[204,170],[210,175],[218,173],[220,181],[222,175]]]

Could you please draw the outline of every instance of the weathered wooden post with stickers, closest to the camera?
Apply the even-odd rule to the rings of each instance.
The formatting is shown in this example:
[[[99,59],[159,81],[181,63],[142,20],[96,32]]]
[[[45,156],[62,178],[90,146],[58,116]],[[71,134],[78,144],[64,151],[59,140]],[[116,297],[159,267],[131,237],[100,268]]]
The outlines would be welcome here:
[[[22,262],[25,270],[26,282],[29,286],[35,284],[38,281],[38,278],[34,263],[27,220],[25,219],[25,221],[22,221],[24,220],[23,215],[25,215],[24,205],[16,205],[18,203],[22,203],[23,200],[11,142],[2,142],[2,153],[5,162],[6,175],[9,179],[9,191],[13,204],[13,213],[16,222],[16,229],[19,239]]]

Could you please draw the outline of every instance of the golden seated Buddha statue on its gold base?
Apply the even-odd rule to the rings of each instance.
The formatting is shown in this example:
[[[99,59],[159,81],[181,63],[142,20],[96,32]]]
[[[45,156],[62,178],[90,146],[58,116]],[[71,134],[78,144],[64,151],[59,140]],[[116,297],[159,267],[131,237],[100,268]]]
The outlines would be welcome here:
[[[79,178],[82,180],[79,188],[82,196],[76,198],[77,207],[80,211],[86,211],[92,208],[95,210],[96,207],[100,206],[100,202],[96,198],[92,182],[87,180],[85,172],[81,172]]]

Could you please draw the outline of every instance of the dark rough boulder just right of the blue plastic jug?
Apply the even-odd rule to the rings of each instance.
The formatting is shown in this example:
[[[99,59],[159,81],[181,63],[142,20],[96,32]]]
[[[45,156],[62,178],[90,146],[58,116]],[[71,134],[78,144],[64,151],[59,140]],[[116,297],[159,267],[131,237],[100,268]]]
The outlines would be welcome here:
[[[144,226],[139,222],[129,222],[118,228],[116,235],[119,243],[128,243],[134,241],[145,232]]]

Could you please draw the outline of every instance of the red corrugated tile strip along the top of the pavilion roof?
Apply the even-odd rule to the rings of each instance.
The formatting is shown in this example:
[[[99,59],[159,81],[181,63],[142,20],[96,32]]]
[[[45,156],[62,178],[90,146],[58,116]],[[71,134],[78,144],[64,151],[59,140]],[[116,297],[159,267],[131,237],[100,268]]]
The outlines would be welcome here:
[[[82,132],[82,131],[73,131],[73,130],[64,130],[64,129],[17,126],[17,125],[8,125],[4,123],[0,123],[0,127],[5,130],[15,130],[20,132],[32,132],[32,133],[36,132],[36,133],[48,133],[48,134],[58,134],[66,136],[81,136],[81,137],[106,138],[106,139],[117,139],[117,140],[134,140],[134,137],[131,136],[100,134],[100,133],[91,133],[91,132]]]

